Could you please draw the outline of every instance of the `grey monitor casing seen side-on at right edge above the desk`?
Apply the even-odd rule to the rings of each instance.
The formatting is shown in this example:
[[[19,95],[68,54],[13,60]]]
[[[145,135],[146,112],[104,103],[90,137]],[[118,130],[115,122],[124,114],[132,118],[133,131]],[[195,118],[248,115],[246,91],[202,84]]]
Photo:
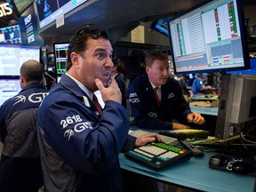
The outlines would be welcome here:
[[[227,139],[256,121],[256,76],[223,75],[215,137]],[[249,125],[248,125],[249,124]]]

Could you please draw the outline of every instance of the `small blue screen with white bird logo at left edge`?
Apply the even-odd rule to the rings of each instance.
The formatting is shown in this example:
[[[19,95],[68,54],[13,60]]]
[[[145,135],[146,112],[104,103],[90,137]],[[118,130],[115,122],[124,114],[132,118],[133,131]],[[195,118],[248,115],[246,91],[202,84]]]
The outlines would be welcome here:
[[[20,25],[0,28],[0,43],[21,44]]]

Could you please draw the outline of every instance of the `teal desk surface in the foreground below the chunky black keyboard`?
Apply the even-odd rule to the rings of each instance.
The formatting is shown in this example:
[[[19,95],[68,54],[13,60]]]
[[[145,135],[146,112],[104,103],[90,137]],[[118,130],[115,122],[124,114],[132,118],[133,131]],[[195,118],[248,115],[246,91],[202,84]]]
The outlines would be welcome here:
[[[192,157],[186,162],[174,164],[161,171],[155,171],[146,165],[135,163],[126,158],[123,153],[119,155],[119,160],[122,169],[181,187],[211,192],[254,191],[254,177],[210,168],[208,160],[214,154],[209,152],[205,153],[204,157]]]

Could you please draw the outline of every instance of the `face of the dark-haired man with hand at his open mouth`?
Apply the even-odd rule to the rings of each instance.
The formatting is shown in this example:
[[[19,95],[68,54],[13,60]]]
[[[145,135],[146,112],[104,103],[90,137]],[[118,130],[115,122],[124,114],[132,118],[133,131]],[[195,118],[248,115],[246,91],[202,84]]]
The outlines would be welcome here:
[[[111,75],[112,45],[107,39],[89,39],[87,49],[83,55],[78,54],[78,65],[76,67],[80,82],[83,83],[91,92],[98,90],[95,78],[100,78],[104,86],[107,86]]]

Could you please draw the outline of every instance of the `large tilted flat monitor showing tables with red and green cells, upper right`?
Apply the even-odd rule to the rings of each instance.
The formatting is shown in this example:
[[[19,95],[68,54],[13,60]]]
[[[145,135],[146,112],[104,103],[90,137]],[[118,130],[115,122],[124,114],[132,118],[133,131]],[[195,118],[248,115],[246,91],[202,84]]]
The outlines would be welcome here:
[[[172,17],[169,33],[175,74],[250,68],[240,0],[206,0]]]

